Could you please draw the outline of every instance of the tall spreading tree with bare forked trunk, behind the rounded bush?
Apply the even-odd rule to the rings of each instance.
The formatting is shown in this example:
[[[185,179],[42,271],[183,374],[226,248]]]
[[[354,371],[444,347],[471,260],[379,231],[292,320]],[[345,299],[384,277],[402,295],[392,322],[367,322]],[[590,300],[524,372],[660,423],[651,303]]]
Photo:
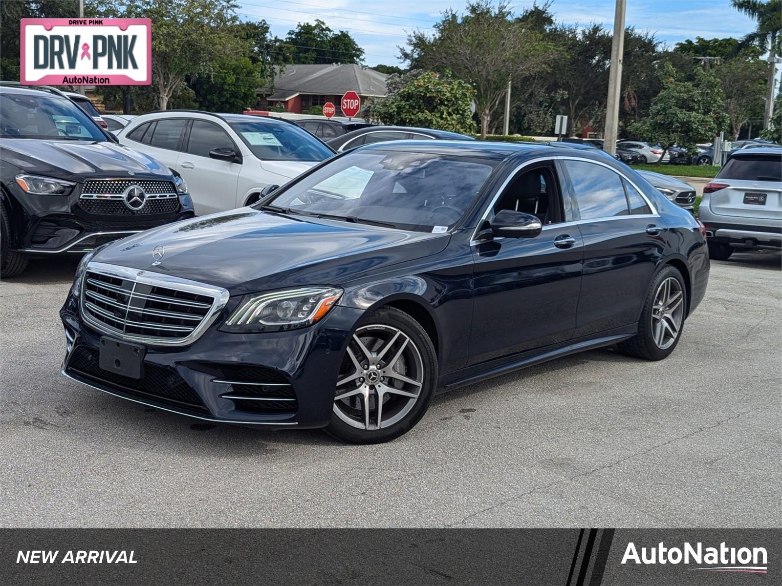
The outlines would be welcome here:
[[[433,36],[420,30],[408,35],[400,56],[411,69],[450,70],[471,83],[482,138],[508,81],[519,83],[549,69],[556,55],[554,46],[515,18],[505,2],[493,6],[489,0],[476,0],[468,3],[462,16],[449,9],[434,28]]]

